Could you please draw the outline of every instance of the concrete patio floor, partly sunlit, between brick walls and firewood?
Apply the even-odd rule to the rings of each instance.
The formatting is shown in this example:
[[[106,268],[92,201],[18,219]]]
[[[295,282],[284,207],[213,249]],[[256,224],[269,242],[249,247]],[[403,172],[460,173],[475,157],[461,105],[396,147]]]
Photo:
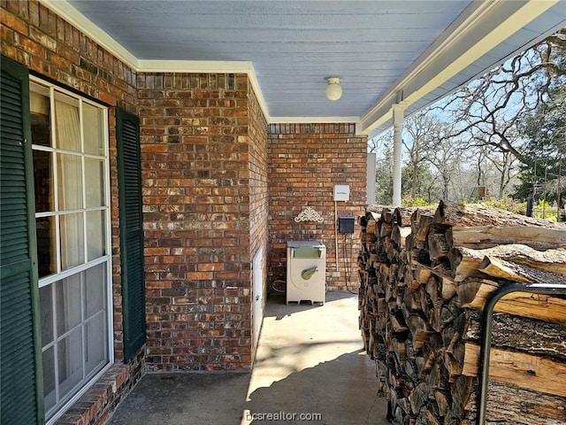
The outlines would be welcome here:
[[[324,305],[270,294],[250,374],[145,375],[107,425],[389,424],[357,317],[349,292]]]

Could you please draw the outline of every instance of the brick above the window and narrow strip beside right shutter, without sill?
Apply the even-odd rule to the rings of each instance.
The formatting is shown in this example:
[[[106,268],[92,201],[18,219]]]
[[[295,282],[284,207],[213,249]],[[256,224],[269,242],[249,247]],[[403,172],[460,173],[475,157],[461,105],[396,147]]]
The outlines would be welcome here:
[[[37,1],[2,2],[2,54],[40,77],[110,105],[114,357],[123,359],[114,106],[136,112],[135,73]]]

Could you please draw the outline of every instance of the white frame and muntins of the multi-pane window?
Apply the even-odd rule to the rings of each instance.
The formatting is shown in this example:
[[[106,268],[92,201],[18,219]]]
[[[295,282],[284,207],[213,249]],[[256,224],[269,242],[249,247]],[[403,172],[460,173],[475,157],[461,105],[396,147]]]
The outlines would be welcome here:
[[[85,258],[85,262],[83,264],[80,264],[78,266],[75,267],[70,267],[66,270],[60,270],[60,265],[61,265],[61,260],[60,260],[60,227],[58,225],[58,220],[56,220],[57,225],[55,227],[55,232],[56,232],[56,243],[57,243],[57,250],[56,250],[56,256],[57,256],[57,273],[56,274],[50,274],[48,276],[42,277],[41,279],[39,279],[38,285],[39,288],[42,288],[43,286],[46,285],[50,285],[54,282],[60,281],[62,279],[64,279],[65,277],[68,277],[70,275],[73,274],[79,274],[82,271],[85,271],[91,267],[95,267],[96,265],[99,264],[103,264],[106,263],[107,267],[105,270],[105,275],[106,275],[106,323],[107,323],[107,328],[106,328],[106,344],[108,347],[108,364],[106,366],[104,366],[99,372],[96,373],[96,375],[93,375],[88,382],[83,383],[82,387],[80,388],[80,390],[78,390],[73,397],[69,398],[64,405],[59,406],[57,408],[57,411],[55,413],[52,414],[52,416],[50,416],[49,420],[46,421],[46,425],[52,425],[55,422],[57,422],[57,420],[63,415],[65,414],[65,411],[69,409],[69,407],[73,406],[73,404],[82,396],[84,395],[88,389],[90,387],[92,387],[92,385],[94,383],[96,383],[96,381],[98,379],[100,379],[100,377],[112,366],[112,364],[114,363],[114,338],[113,338],[113,329],[114,329],[114,322],[113,322],[113,318],[114,318],[114,310],[113,310],[113,303],[112,303],[112,259],[111,259],[111,188],[110,188],[110,181],[111,181],[111,177],[110,177],[110,143],[109,143],[109,125],[108,125],[108,108],[106,106],[103,106],[101,104],[97,104],[96,102],[93,102],[91,100],[88,100],[88,98],[86,97],[82,97],[80,95],[77,95],[71,91],[62,89],[61,87],[57,86],[56,84],[50,83],[49,81],[44,81],[41,78],[35,77],[33,75],[30,76],[29,78],[30,82],[34,82],[36,84],[39,84],[41,86],[43,86],[44,88],[49,89],[50,91],[50,111],[51,114],[53,114],[55,111],[54,108],[54,102],[55,102],[55,92],[59,92],[62,93],[66,96],[70,96],[73,97],[75,99],[78,100],[79,102],[79,112],[80,112],[80,123],[83,123],[83,114],[82,114],[82,104],[90,104],[95,106],[96,108],[99,108],[103,111],[103,122],[102,122],[102,134],[103,134],[103,155],[93,155],[93,154],[88,154],[88,153],[84,153],[84,149],[81,149],[81,153],[80,153],[80,158],[81,158],[81,170],[82,170],[82,182],[83,182],[83,187],[87,184],[87,180],[84,174],[85,174],[85,166],[84,166],[84,159],[83,158],[96,158],[98,160],[102,160],[103,161],[103,174],[104,174],[104,184],[103,184],[103,204],[104,206],[102,207],[85,207],[85,208],[81,208],[80,210],[76,210],[76,213],[82,213],[82,212],[91,212],[91,211],[103,211],[103,220],[105,223],[105,228],[104,228],[104,251],[106,252],[105,255],[103,255],[102,257],[98,257],[96,259],[90,260],[88,261],[88,256],[87,256],[87,252],[86,252],[86,246],[87,246],[87,232],[88,232],[88,228],[87,228],[87,223],[86,223],[86,214],[83,214],[83,237],[84,237],[84,247],[85,247],[85,252],[84,252],[84,258]],[[50,117],[50,122],[51,122],[51,135],[50,135],[50,140],[53,140],[53,132],[55,131],[55,126],[52,125],[53,124],[53,116],[51,115]],[[80,143],[81,143],[81,148],[84,148],[84,126],[80,126]],[[40,146],[40,145],[32,145],[33,149],[36,151],[49,151],[49,152],[61,152],[61,153],[65,153],[65,151],[63,150],[57,150],[55,148],[52,147],[47,147],[47,146]],[[76,154],[77,152],[72,152],[73,154]],[[57,172],[56,170],[56,164],[55,164],[55,156],[52,156],[51,160],[52,162],[52,167],[53,167],[53,189],[57,192]],[[82,193],[82,205],[86,205],[86,192],[83,190]],[[55,215],[62,215],[61,212],[59,212],[59,206],[57,205],[57,203],[54,205],[53,208],[54,211],[48,212],[48,213],[35,213],[35,218],[41,218],[41,217],[51,217],[51,216],[55,216]],[[73,210],[66,210],[65,213],[73,213]],[[84,359],[83,359],[84,361]]]

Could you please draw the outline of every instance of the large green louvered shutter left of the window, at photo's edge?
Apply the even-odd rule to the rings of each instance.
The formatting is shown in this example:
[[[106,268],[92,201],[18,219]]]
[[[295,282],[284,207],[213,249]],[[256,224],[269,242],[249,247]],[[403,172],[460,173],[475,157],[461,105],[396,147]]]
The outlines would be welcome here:
[[[1,59],[0,417],[43,423],[27,69]]]

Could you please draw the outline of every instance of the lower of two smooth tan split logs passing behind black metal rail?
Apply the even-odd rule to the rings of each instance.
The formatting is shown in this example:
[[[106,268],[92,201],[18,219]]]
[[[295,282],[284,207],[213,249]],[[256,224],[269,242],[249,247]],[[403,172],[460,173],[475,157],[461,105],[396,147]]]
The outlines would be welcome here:
[[[478,376],[479,345],[465,344],[463,375]],[[511,383],[518,387],[566,397],[566,363],[492,348],[489,361],[490,380]]]

